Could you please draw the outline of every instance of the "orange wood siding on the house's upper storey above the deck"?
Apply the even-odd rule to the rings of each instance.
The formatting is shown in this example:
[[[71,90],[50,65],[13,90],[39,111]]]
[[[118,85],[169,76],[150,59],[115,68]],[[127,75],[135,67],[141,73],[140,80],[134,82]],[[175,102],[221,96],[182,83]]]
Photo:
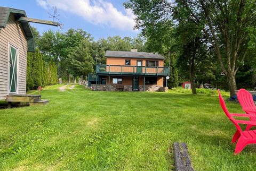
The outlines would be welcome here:
[[[143,59],[143,58],[124,58],[124,57],[107,57],[107,65],[125,65],[125,59],[131,60],[131,66],[137,65],[137,60],[142,61],[142,66],[146,66],[146,61],[158,61],[158,66],[164,66],[163,59]]]

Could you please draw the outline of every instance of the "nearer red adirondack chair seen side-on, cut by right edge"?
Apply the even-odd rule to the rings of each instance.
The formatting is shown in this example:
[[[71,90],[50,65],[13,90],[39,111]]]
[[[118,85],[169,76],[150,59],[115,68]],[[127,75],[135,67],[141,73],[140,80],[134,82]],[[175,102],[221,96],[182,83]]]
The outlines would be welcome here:
[[[230,121],[236,126],[236,132],[233,136],[232,143],[236,143],[236,149],[235,149],[235,155],[237,155],[239,152],[241,152],[247,144],[256,143],[256,130],[250,130],[250,131],[243,131],[239,124],[246,124],[246,125],[254,125],[256,126],[256,122],[254,121],[244,121],[244,120],[237,120],[234,117],[254,117],[255,115],[251,114],[230,114],[227,106],[225,104],[224,99],[222,98],[220,91],[219,93],[219,100],[220,100],[220,106],[227,115],[227,117],[230,119]]]

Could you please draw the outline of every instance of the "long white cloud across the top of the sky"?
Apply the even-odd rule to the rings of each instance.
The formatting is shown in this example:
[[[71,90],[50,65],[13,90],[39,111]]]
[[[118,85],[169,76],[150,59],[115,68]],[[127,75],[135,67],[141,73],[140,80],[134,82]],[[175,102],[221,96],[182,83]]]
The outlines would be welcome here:
[[[59,10],[74,13],[90,23],[104,27],[132,30],[135,24],[131,10],[118,11],[113,4],[103,0],[37,0],[37,3],[45,9],[56,6]]]

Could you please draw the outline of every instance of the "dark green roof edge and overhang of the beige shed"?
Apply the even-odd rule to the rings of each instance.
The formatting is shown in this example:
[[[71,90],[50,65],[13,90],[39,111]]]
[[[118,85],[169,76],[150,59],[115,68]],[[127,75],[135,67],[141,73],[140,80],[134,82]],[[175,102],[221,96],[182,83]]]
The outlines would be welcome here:
[[[17,10],[14,8],[0,6],[0,28],[6,27],[10,13],[14,13],[17,19],[20,18],[21,16],[27,17],[26,12],[24,10]],[[34,36],[33,36],[33,32],[31,30],[29,22],[20,22],[20,23],[27,37],[28,52],[35,52]]]

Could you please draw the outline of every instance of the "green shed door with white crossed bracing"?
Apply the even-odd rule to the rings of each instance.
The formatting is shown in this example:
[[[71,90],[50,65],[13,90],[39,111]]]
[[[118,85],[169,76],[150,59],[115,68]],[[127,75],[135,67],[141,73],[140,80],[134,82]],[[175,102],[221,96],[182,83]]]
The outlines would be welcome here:
[[[9,45],[9,93],[18,92],[18,49]]]

